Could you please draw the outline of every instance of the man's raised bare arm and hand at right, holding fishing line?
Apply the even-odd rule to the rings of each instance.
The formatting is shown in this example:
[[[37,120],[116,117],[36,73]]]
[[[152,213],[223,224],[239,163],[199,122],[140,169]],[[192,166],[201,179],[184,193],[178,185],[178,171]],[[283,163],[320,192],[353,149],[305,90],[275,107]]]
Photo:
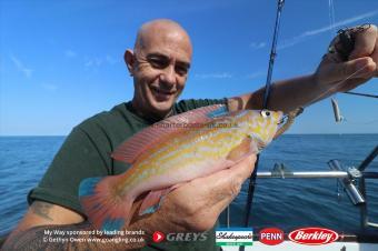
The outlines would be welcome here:
[[[328,52],[312,74],[277,81],[271,86],[267,108],[289,112],[307,107],[336,92],[351,90],[378,77],[378,31],[371,24],[356,36],[356,44],[347,61]],[[335,39],[332,44],[338,40]],[[262,109],[265,88],[230,98],[230,110]]]

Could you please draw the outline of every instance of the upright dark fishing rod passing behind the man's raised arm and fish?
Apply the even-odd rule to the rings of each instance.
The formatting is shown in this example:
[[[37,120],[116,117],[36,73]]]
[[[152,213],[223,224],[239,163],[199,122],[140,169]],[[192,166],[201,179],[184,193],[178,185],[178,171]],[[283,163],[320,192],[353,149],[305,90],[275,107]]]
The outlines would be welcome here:
[[[271,43],[268,74],[267,74],[267,81],[266,81],[265,92],[263,92],[263,104],[262,104],[263,109],[266,109],[268,107],[269,97],[270,97],[271,76],[272,76],[272,71],[273,71],[275,59],[276,59],[276,56],[277,56],[276,48],[277,48],[278,32],[279,32],[280,18],[281,18],[284,4],[285,4],[285,0],[278,0],[273,40],[272,40],[272,43]],[[249,221],[250,211],[251,211],[251,207],[252,207],[252,199],[253,199],[253,193],[255,193],[256,174],[257,174],[258,165],[259,165],[259,154],[257,155],[255,170],[251,173],[251,175],[249,177],[248,197],[247,197],[247,203],[246,203],[245,227],[248,227],[248,221]],[[243,250],[243,247],[241,248],[241,250]]]

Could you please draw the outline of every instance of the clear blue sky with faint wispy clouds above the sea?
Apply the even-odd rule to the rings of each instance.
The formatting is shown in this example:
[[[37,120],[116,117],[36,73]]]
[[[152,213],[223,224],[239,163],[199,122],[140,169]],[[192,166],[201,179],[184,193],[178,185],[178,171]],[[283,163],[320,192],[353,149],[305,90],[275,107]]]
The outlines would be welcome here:
[[[332,2],[332,4],[330,4]],[[191,37],[188,98],[251,92],[266,82],[276,0],[0,0],[0,135],[67,135],[132,98],[123,52],[138,28],[178,21]],[[312,73],[337,30],[378,23],[376,0],[286,0],[272,80]],[[378,94],[378,80],[356,89]],[[288,133],[378,133],[378,100],[338,93]]]

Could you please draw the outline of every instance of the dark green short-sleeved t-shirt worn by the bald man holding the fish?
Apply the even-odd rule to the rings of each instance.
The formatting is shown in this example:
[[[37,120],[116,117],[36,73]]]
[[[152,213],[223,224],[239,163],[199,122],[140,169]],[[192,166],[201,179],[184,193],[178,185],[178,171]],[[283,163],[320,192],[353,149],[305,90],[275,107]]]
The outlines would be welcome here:
[[[227,103],[227,99],[181,100],[175,104],[173,113],[216,103]],[[78,198],[81,180],[123,173],[128,164],[115,161],[110,153],[126,139],[151,124],[152,121],[133,112],[131,102],[83,121],[73,128],[38,187],[30,191],[29,203],[48,201],[84,215]],[[142,250],[216,250],[215,232],[210,231],[203,242],[163,242]]]

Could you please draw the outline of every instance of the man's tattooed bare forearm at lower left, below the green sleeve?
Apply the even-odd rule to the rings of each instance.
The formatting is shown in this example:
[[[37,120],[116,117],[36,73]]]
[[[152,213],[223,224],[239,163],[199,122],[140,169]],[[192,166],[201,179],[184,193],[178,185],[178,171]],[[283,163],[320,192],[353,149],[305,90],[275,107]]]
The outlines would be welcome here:
[[[130,230],[139,227],[140,222],[130,225]],[[60,233],[49,235],[48,231]],[[118,237],[99,237],[91,234],[91,225],[80,214],[60,205],[34,201],[24,219],[7,239],[2,250],[129,250],[146,245],[145,241],[126,243],[120,239],[116,240]],[[141,238],[147,240],[148,234]]]

